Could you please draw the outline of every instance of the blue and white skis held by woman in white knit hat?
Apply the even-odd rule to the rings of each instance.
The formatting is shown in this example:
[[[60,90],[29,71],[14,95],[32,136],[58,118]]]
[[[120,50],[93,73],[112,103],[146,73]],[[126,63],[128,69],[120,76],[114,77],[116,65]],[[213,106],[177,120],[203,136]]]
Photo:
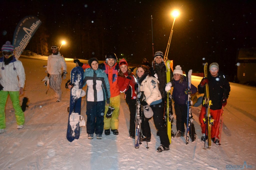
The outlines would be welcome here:
[[[189,70],[188,72],[186,72],[186,77],[187,77],[187,88],[188,91],[190,91],[191,89],[191,74],[192,74],[192,70]],[[189,134],[191,135],[191,141],[194,142],[195,141],[195,126],[193,124],[193,116],[192,116],[192,105],[193,102],[191,100],[191,94],[188,92],[188,101],[187,101],[187,107],[188,107],[188,112],[187,112],[187,135],[186,135],[186,144],[188,144],[189,142]]]

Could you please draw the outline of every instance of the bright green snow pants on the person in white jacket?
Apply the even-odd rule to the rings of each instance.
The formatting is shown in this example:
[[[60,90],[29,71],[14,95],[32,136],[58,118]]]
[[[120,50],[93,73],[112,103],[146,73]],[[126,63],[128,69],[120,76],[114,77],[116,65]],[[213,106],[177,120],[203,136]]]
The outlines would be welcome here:
[[[25,122],[24,112],[22,111],[19,104],[19,91],[0,91],[0,129],[6,128],[5,125],[5,104],[7,96],[10,95],[10,99],[13,103],[15,110],[16,122],[18,125],[23,125]]]

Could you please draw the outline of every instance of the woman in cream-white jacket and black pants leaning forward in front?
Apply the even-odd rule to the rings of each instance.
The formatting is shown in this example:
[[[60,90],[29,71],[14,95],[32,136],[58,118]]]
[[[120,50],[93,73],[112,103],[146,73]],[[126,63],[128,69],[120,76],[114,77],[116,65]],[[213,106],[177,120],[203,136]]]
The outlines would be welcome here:
[[[137,79],[141,92],[144,92],[145,100],[141,101],[141,105],[149,105],[153,111],[153,119],[156,129],[159,131],[161,145],[157,148],[157,152],[169,150],[170,141],[164,125],[163,119],[163,103],[162,96],[158,89],[158,80],[150,76],[150,71],[147,66],[140,65],[137,68]],[[141,95],[141,98],[143,96]],[[142,139],[141,141],[151,140],[151,130],[148,121],[151,118],[145,118],[142,114]],[[146,135],[146,136],[145,136]]]

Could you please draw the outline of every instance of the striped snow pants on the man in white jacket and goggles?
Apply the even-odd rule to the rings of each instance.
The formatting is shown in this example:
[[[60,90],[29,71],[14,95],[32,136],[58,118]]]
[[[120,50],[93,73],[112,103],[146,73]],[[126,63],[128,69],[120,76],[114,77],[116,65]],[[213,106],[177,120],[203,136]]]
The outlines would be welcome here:
[[[50,87],[55,91],[57,100],[61,99],[61,75],[60,74],[51,74],[50,75]]]

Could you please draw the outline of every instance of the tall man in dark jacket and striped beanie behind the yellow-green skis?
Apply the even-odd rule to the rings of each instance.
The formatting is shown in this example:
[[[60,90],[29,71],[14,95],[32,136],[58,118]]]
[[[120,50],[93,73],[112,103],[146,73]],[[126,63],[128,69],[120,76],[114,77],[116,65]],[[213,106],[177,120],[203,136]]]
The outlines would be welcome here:
[[[159,81],[159,91],[162,96],[162,101],[163,101],[163,106],[165,107],[166,105],[166,92],[165,92],[165,86],[167,83],[166,79],[166,65],[164,62],[164,54],[162,51],[157,51],[154,55],[154,60],[152,61],[152,67],[150,67],[150,72],[153,77],[155,77]],[[173,72],[171,69],[170,72],[170,78],[173,77]],[[163,112],[163,119],[164,119],[164,112]],[[172,129],[172,125],[171,125]],[[159,133],[157,131],[157,136],[159,136]],[[173,130],[171,130],[171,136],[174,137]]]

